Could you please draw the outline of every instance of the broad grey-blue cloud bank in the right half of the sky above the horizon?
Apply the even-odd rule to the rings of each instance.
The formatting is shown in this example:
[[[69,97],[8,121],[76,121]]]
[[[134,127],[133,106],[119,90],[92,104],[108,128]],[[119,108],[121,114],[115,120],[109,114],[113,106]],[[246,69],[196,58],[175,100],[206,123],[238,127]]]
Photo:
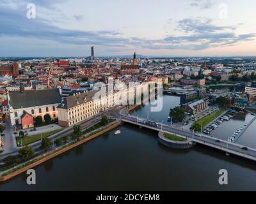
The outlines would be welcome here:
[[[137,43],[143,41],[143,47],[150,49],[184,49],[204,50],[211,47],[237,45],[243,41],[255,40],[256,34],[236,34],[234,26],[218,26],[209,18],[185,18],[177,22],[179,36],[167,36],[163,40],[141,40],[133,38]]]

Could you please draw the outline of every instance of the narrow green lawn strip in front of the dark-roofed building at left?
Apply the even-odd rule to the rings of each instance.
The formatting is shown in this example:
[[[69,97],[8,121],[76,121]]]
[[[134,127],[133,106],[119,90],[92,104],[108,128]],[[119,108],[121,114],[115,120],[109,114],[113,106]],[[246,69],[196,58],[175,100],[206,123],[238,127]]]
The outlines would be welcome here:
[[[42,133],[42,137],[43,138],[46,138],[48,136],[51,136],[51,135],[54,135],[58,132],[60,132],[61,130],[63,130],[64,128],[60,128],[60,129],[56,129],[54,131],[50,131],[50,132],[47,132],[47,133]],[[37,142],[41,140],[41,134],[38,134],[38,135],[29,135],[29,136],[25,136],[23,139],[22,139],[22,144],[23,146],[24,145],[29,145],[31,143],[34,143],[34,142]],[[16,137],[16,142],[17,142],[17,145],[20,147],[20,137],[17,136]]]

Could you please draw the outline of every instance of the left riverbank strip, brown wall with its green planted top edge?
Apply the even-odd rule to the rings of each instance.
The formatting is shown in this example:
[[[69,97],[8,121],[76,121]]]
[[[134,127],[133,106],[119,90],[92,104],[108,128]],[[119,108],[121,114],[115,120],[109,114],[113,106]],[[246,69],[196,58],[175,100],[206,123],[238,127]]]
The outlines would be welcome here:
[[[19,175],[20,173],[23,173],[24,171],[29,170],[30,168],[34,168],[35,166],[38,166],[39,164],[42,164],[45,161],[48,161],[49,159],[59,156],[63,152],[67,152],[68,150],[71,150],[74,147],[77,147],[85,142],[88,142],[88,141],[92,140],[93,138],[96,138],[97,136],[100,136],[108,131],[111,131],[111,129],[115,129],[119,125],[120,125],[120,122],[115,122],[114,124],[107,126],[102,131],[99,131],[95,134],[92,133],[93,135],[89,135],[88,137],[84,138],[83,140],[79,140],[76,143],[70,143],[70,145],[66,145],[66,147],[56,148],[52,152],[48,152],[48,153],[44,154],[43,156],[38,156],[34,159],[27,161],[26,163],[20,164],[19,167],[16,166],[13,169],[5,171],[0,176],[0,182],[9,180],[9,179]]]

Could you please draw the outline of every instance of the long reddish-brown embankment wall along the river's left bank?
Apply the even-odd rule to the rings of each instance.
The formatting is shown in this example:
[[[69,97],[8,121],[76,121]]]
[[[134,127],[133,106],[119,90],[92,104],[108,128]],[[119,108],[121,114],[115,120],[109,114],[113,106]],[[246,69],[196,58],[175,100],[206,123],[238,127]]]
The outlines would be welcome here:
[[[111,129],[115,129],[119,125],[120,125],[120,122],[116,122],[115,124],[109,126],[108,128],[103,129],[99,133],[95,133],[94,135],[89,136],[88,138],[84,138],[83,140],[80,140],[77,143],[69,145],[68,147],[64,147],[63,149],[60,149],[60,150],[56,149],[56,151],[54,151],[54,152],[47,153],[44,156],[40,157],[40,159],[38,161],[35,161],[35,163],[28,164],[27,166],[24,166],[23,168],[20,168],[19,170],[14,171],[13,173],[1,176],[0,177],[0,182],[4,182],[4,181],[6,181],[8,179],[11,179],[12,177],[15,177],[15,176],[19,175],[20,173],[23,173],[24,171],[27,171],[27,170],[29,170],[31,168],[34,168],[35,166],[38,166],[39,164],[42,164],[45,161],[47,161],[49,159],[52,159],[53,157],[59,156],[63,152],[67,152],[68,150],[73,149],[74,147],[77,147],[77,146],[79,146],[79,145],[81,145],[81,144],[83,144],[85,142],[88,142],[89,140],[92,140],[93,138],[96,138],[97,136],[100,136],[100,135],[102,135],[102,134],[104,134],[104,133],[106,133],[108,131],[111,131]]]

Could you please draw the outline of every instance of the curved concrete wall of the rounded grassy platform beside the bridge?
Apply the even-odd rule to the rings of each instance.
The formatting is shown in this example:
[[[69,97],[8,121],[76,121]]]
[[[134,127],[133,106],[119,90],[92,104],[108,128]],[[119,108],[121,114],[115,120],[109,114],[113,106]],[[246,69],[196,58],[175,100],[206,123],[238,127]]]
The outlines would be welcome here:
[[[179,142],[179,141],[174,141],[174,140],[169,140],[164,137],[163,132],[158,133],[158,141],[163,144],[166,147],[171,147],[174,149],[189,149],[193,147],[192,141],[191,140],[185,140],[184,142]]]

